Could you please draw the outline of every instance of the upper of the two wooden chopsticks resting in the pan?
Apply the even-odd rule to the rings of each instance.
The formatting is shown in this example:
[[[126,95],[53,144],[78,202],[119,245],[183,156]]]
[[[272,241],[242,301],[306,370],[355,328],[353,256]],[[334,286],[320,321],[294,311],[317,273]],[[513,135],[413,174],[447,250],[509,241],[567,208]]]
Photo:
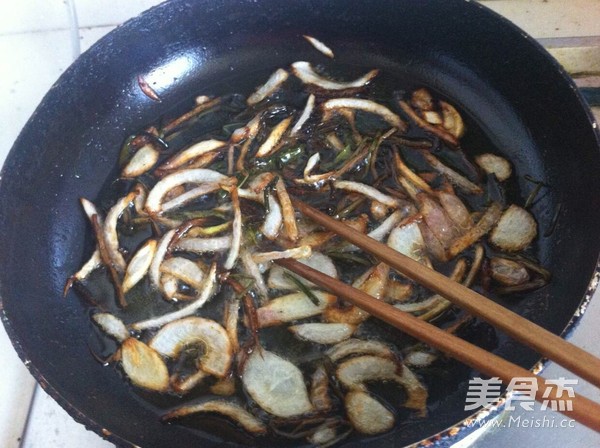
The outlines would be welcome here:
[[[599,358],[498,305],[472,289],[450,280],[439,272],[423,266],[385,244],[354,230],[343,222],[327,216],[310,205],[297,199],[293,199],[292,202],[307,218],[374,255],[408,278],[437,292],[460,308],[489,322],[513,339],[533,348],[541,355],[560,364],[596,387],[600,387]]]

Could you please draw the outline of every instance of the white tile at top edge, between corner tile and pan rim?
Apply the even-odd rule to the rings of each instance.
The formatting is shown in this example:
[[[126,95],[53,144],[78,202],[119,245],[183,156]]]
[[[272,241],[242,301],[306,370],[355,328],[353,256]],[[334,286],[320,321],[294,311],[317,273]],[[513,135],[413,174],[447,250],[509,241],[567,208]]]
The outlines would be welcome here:
[[[164,0],[75,0],[80,27],[120,25]]]

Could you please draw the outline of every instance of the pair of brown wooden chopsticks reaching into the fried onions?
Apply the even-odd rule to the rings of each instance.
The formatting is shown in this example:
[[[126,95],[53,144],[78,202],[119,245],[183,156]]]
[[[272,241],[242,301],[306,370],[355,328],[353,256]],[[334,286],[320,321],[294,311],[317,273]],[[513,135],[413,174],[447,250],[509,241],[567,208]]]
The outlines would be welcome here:
[[[399,273],[439,293],[472,315],[486,320],[515,340],[600,387],[599,358],[302,201],[293,199],[292,202],[296,209],[307,218],[335,232]],[[534,375],[531,371],[379,301],[363,291],[293,259],[277,260],[276,263],[479,372],[490,377],[500,378],[504,384],[508,384],[513,378],[533,379],[537,382],[537,401],[565,399],[565,393],[556,385],[548,383],[544,378]],[[568,398],[571,400],[573,409],[560,412],[589,428],[600,431],[600,404],[577,394]]]

